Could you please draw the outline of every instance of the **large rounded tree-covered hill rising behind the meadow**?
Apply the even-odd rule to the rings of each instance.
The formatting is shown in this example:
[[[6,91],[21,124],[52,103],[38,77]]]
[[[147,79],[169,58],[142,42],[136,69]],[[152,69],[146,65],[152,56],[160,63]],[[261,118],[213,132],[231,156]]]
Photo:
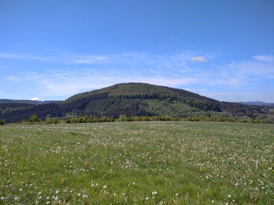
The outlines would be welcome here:
[[[101,113],[116,118],[125,115],[182,116],[197,111],[229,112],[238,115],[260,110],[260,107],[220,102],[186,90],[150,85],[121,83],[92,92],[71,96],[62,103],[65,112]],[[78,113],[79,114],[79,113]]]

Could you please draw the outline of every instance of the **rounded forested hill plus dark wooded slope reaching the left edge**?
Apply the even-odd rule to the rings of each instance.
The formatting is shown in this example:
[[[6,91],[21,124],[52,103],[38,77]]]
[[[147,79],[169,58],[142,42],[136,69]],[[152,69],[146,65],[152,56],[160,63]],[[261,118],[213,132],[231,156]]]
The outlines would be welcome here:
[[[229,113],[253,115],[261,107],[235,102],[220,102],[186,90],[150,85],[121,83],[91,92],[71,96],[63,102],[41,105],[0,104],[0,119],[6,122],[27,120],[36,114],[39,118],[95,115],[118,118],[119,115],[161,115],[175,118],[191,113]]]

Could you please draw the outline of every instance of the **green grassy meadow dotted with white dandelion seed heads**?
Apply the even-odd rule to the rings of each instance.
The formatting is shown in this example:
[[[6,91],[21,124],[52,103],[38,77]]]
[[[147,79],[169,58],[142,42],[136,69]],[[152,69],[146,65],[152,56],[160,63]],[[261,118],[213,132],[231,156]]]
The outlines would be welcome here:
[[[274,125],[0,126],[0,204],[274,204]]]

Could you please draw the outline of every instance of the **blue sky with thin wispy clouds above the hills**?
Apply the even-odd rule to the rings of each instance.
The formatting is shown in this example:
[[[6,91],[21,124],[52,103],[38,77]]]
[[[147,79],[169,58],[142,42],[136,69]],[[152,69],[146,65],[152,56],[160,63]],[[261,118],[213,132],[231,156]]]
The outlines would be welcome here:
[[[274,102],[274,1],[0,0],[0,98],[124,82]]]

